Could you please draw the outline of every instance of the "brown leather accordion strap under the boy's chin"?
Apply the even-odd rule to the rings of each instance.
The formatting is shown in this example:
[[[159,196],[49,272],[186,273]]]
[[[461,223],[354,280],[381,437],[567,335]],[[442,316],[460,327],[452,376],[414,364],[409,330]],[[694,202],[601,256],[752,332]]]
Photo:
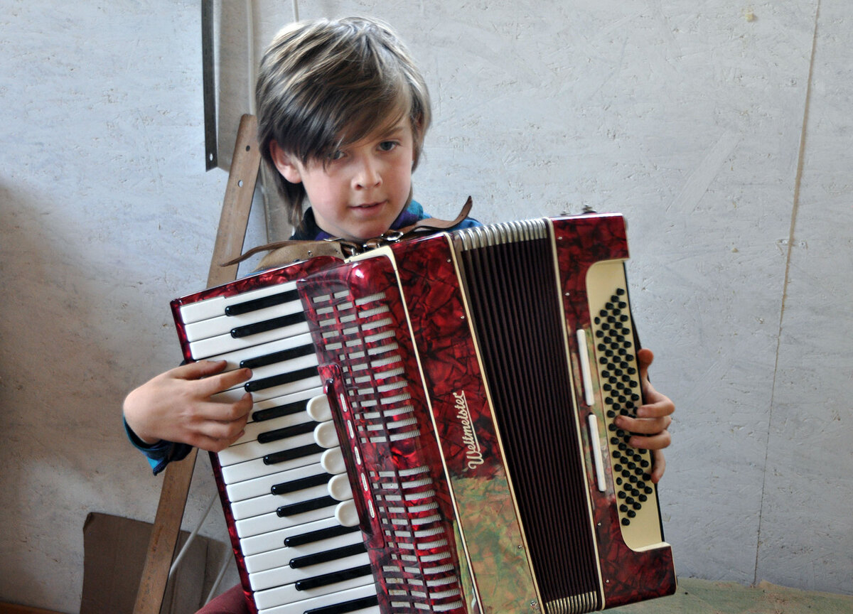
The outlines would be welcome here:
[[[332,237],[325,240],[281,240],[268,243],[263,246],[252,247],[243,252],[238,258],[220,264],[223,267],[234,266],[260,252],[267,252],[258,263],[258,269],[270,269],[271,267],[291,264],[298,260],[307,260],[316,256],[334,256],[335,258],[348,258],[356,254],[366,252],[376,247],[396,243],[399,240],[411,239],[421,233],[432,233],[438,230],[451,229],[461,223],[471,212],[473,201],[471,197],[465,201],[459,214],[452,220],[425,217],[417,222],[397,230],[389,230],[384,235],[364,241],[362,244],[350,240]]]

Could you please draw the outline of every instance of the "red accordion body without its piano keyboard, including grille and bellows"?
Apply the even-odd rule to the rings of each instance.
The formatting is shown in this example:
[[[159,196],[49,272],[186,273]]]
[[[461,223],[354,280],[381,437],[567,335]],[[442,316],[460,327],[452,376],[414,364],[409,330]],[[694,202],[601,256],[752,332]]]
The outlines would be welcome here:
[[[401,242],[297,283],[380,611],[596,611],[676,590],[615,214]]]

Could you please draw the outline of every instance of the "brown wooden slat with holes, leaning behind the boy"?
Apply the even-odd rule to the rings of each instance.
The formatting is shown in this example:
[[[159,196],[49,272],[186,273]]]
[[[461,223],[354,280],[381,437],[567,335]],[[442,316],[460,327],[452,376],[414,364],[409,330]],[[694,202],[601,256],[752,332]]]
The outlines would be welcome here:
[[[233,281],[237,275],[236,264],[221,267],[219,263],[236,258],[241,253],[259,164],[258,121],[252,115],[243,115],[240,129],[237,131],[222,215],[219,218],[216,244],[207,276],[208,287]],[[148,542],[148,555],[142,570],[133,614],[160,614],[197,454],[198,450],[193,449],[186,459],[170,463],[165,469],[160,503],[154,518],[151,540]]]

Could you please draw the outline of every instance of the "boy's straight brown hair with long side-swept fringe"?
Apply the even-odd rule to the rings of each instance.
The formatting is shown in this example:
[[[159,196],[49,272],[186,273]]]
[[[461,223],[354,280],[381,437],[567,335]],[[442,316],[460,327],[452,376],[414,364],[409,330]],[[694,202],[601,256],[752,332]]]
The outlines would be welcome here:
[[[276,172],[270,142],[303,164],[409,118],[421,156],[431,110],[427,84],[389,26],[368,18],[303,21],[270,43],[258,71],[258,142],[289,222],[302,221],[305,188]]]

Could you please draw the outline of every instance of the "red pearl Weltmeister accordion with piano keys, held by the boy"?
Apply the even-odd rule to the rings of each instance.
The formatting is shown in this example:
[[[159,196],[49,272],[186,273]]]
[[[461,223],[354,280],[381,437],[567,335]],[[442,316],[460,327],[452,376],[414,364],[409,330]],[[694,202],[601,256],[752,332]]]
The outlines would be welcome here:
[[[261,614],[597,611],[672,594],[616,214],[311,258],[172,302],[252,368],[212,455]],[[224,391],[237,398],[244,389]]]

